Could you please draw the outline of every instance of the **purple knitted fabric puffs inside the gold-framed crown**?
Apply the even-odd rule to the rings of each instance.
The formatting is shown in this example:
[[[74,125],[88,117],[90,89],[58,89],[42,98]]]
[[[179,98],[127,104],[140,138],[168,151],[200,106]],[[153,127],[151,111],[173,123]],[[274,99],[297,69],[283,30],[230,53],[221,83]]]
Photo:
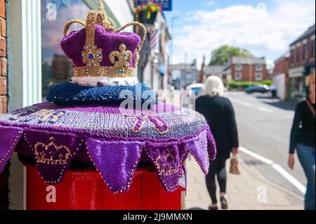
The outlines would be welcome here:
[[[96,25],[96,46],[103,50],[103,61],[100,66],[113,66],[110,62],[109,55],[112,51],[119,51],[119,45],[125,44],[126,50],[133,53],[131,67],[134,66],[135,51],[140,44],[138,34],[131,32],[107,32],[102,26]],[[86,28],[79,31],[70,32],[61,41],[62,51],[65,52],[74,64],[74,67],[84,67],[81,51],[84,51],[86,45]]]

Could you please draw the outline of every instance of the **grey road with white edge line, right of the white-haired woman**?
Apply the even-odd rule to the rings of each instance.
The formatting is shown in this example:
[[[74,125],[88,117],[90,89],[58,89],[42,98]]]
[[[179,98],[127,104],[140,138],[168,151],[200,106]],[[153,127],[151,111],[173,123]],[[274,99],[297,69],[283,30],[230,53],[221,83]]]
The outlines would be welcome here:
[[[294,171],[287,166],[294,107],[279,103],[279,100],[270,99],[268,95],[228,92],[225,96],[230,98],[235,108],[240,145],[246,150],[270,159],[273,164],[279,164],[281,166],[279,169],[284,169],[305,186],[306,179],[298,158],[296,157]],[[293,181],[284,178],[282,172],[274,169],[272,164],[266,164],[243,152],[241,156],[246,163],[256,166],[268,180],[303,196]]]

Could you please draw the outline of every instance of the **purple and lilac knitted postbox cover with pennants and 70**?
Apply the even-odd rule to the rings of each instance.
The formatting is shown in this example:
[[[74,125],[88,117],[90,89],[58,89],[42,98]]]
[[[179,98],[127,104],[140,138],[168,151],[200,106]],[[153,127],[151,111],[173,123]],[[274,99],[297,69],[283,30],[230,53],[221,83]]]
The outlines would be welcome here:
[[[13,150],[33,157],[48,183],[62,181],[72,161],[93,162],[112,192],[129,190],[145,159],[172,192],[187,154],[207,173],[216,145],[201,114],[165,103],[142,112],[118,105],[41,103],[0,115],[0,169]]]

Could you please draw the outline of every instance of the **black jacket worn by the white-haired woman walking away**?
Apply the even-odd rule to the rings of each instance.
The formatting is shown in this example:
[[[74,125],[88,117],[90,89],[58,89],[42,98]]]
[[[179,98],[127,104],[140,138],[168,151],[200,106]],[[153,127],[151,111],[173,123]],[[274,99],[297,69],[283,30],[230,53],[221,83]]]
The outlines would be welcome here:
[[[235,112],[228,98],[204,95],[195,101],[195,110],[204,115],[216,141],[217,159],[228,159],[232,147],[239,147]]]

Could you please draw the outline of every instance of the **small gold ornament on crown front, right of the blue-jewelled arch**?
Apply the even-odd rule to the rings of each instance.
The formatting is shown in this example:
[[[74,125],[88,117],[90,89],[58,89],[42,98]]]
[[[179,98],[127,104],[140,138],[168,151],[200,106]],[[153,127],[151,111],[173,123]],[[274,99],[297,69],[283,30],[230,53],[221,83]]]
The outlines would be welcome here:
[[[110,62],[114,64],[114,67],[126,68],[130,66],[132,53],[131,51],[126,51],[126,45],[120,44],[119,51],[112,51],[109,55]],[[117,62],[115,61],[117,58]]]

